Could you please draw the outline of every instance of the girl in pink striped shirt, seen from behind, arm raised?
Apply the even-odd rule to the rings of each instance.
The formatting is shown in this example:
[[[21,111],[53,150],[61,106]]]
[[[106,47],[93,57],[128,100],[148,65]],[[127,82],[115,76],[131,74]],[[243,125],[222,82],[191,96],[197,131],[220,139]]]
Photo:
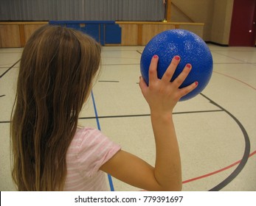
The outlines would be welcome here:
[[[21,56],[11,124],[13,180],[18,191],[106,191],[105,173],[148,191],[181,190],[181,162],[173,107],[196,88],[179,86],[187,64],[170,82],[180,57],[173,57],[162,79],[159,57],[152,57],[149,86],[139,87],[149,104],[156,141],[156,164],[139,157],[92,128],[77,128],[100,65],[100,46],[74,29],[43,26],[28,40]]]

